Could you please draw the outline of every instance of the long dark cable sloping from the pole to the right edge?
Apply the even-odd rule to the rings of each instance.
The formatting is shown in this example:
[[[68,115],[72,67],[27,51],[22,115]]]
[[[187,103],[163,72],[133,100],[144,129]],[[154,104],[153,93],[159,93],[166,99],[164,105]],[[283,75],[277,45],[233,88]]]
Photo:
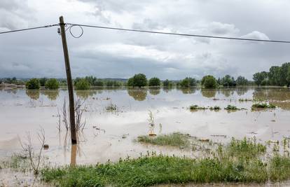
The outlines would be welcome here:
[[[263,41],[263,42],[272,42],[272,43],[290,43],[290,41],[281,41],[281,40],[261,40],[261,39],[244,39],[244,38],[235,38],[235,37],[223,37],[223,36],[209,36],[209,35],[198,35],[198,34],[181,34],[181,33],[172,33],[172,32],[154,32],[147,30],[139,30],[139,29],[122,29],[117,27],[102,27],[95,25],[82,25],[82,24],[74,24],[67,23],[67,25],[76,25],[81,27],[92,27],[98,29],[113,29],[127,32],[145,32],[151,34],[167,34],[167,35],[177,35],[177,36],[191,36],[191,37],[200,37],[200,38],[210,38],[210,39],[229,39],[229,40],[240,40],[240,41]]]

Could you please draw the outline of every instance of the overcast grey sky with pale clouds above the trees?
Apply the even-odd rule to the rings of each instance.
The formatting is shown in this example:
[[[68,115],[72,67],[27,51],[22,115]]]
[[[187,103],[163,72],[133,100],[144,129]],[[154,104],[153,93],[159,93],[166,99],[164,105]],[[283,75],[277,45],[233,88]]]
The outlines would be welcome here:
[[[288,0],[1,0],[0,32],[64,22],[290,41]],[[81,28],[72,27],[74,35]],[[290,44],[166,36],[83,27],[67,30],[72,76],[179,80],[252,78],[290,62]],[[0,34],[0,77],[65,78],[57,27]]]

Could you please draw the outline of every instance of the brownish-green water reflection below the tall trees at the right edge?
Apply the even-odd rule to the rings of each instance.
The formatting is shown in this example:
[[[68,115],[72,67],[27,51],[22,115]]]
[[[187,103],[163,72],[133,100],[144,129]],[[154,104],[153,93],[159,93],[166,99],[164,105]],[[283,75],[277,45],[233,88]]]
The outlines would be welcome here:
[[[255,88],[253,99],[284,101],[290,99],[288,88]]]

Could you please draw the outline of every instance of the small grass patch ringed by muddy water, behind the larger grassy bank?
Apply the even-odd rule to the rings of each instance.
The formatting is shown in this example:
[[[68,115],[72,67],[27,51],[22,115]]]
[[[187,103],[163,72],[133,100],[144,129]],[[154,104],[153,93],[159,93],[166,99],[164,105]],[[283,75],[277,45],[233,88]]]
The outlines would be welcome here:
[[[154,144],[159,146],[178,146],[187,147],[190,145],[188,135],[175,132],[172,134],[161,134],[157,137],[140,136],[137,139],[139,142],[146,144]]]

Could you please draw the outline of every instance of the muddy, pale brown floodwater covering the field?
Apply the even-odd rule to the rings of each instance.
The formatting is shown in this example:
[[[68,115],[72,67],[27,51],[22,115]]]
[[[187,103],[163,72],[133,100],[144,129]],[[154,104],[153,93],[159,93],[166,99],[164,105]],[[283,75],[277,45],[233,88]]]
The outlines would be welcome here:
[[[0,90],[0,160],[21,151],[20,140],[32,137],[37,150],[37,133],[45,131],[43,155],[51,166],[94,164],[137,157],[147,151],[195,157],[194,151],[139,144],[134,139],[149,134],[149,111],[153,113],[154,133],[182,132],[213,141],[229,141],[231,137],[256,137],[258,141],[282,140],[290,133],[289,88],[222,88],[204,90],[173,89],[97,89],[76,91],[84,99],[82,121],[85,128],[78,133],[78,146],[71,149],[70,135],[62,121],[60,132],[58,111],[62,116],[68,92],[60,90]],[[251,111],[253,102],[239,99],[263,99],[276,109]],[[188,107],[220,106],[220,111],[190,111]],[[228,104],[247,110],[226,111]],[[116,110],[107,110],[115,106]]]

